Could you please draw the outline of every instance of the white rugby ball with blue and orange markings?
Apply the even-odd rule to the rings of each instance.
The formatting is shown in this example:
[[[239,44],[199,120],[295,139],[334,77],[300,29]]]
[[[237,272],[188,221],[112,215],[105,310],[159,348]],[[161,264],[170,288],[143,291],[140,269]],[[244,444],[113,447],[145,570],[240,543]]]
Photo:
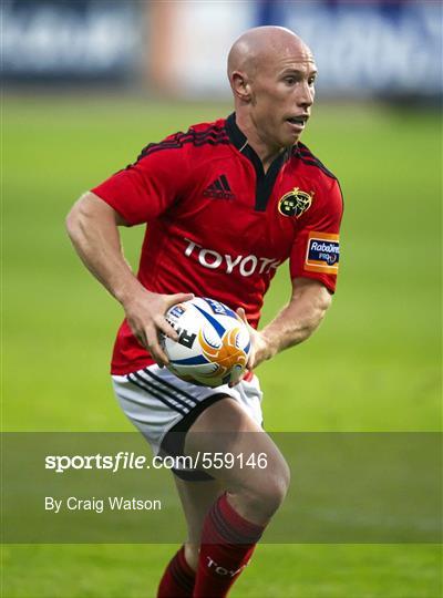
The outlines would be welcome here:
[[[162,336],[168,369],[182,380],[219,386],[245,371],[250,351],[249,331],[224,303],[197,297],[173,306],[165,315],[178,341]]]

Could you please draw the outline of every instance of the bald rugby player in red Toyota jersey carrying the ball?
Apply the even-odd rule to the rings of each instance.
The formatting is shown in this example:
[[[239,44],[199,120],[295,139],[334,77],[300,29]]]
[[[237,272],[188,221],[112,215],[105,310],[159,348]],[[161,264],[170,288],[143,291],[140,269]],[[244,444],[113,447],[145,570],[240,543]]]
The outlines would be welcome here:
[[[68,217],[80,257],[124,309],[113,384],[153,450],[215,452],[230,432],[225,452],[250,453],[253,437],[255,453],[267,455],[265,470],[174,471],[188,537],[164,573],[161,598],[226,596],[288,489],[288,465],[261,427],[254,370],[305,341],[336,288],[340,187],[299,143],[316,74],[311,51],[293,32],[247,31],[228,56],[235,112],[147,145]],[[147,226],[135,276],[119,226],[141,224]],[[290,300],[257,330],[264,295],[287,258]],[[223,301],[249,322],[254,351],[238,383],[210,389],[164,368],[158,336],[177,338],[165,311],[193,296]]]

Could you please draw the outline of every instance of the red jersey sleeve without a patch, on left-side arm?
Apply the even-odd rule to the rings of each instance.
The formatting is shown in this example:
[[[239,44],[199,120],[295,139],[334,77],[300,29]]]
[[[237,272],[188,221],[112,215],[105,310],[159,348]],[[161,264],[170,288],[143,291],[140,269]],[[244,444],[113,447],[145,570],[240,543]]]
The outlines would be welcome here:
[[[147,146],[137,162],[92,188],[130,225],[163,214],[186,185],[187,168],[178,135]]]

